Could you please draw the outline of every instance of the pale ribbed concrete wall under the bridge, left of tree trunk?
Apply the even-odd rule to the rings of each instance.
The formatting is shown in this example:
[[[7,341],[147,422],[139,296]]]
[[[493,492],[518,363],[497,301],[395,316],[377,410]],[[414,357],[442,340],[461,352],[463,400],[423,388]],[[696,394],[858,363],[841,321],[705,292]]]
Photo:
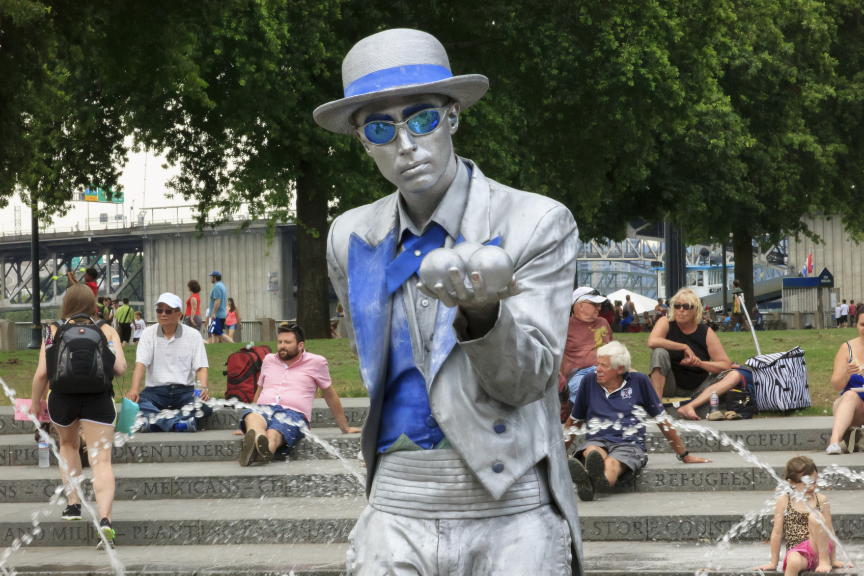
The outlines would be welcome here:
[[[185,302],[189,293],[186,284],[190,279],[198,280],[201,285],[203,316],[212,288],[207,275],[213,270],[222,272],[228,297],[234,298],[244,320],[289,317],[294,282],[290,253],[283,254],[285,235],[277,233],[268,248],[263,223],[252,225],[249,232],[234,234],[234,229],[226,226],[219,229],[219,234],[210,230],[200,239],[185,231],[179,236],[156,230],[148,234],[149,239],[144,240],[146,320],[156,319],[153,304],[162,292],[174,292]],[[273,278],[278,281],[276,291],[268,290],[268,272],[276,272]]]

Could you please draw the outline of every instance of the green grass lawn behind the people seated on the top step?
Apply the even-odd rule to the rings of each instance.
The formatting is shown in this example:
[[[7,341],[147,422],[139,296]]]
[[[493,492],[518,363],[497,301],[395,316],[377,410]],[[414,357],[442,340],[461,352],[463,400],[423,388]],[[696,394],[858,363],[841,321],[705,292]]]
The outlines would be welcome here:
[[[834,365],[834,356],[842,342],[858,336],[856,330],[785,330],[759,332],[759,345],[763,354],[783,352],[800,346],[806,353],[807,374],[810,381],[810,397],[813,406],[800,410],[797,414],[808,416],[823,416],[831,413],[831,406],[838,394],[831,389],[829,379]],[[729,358],[734,362],[744,362],[756,355],[753,336],[749,333],[731,332],[720,334],[720,341],[726,349]],[[645,346],[647,334],[616,334],[615,337],[626,344],[633,358],[632,368],[640,372],[648,370],[651,350]],[[264,342],[276,349],[276,342]],[[310,340],[306,342],[307,349],[315,354],[323,355],[330,364],[330,375],[333,378],[336,391],[341,397],[366,396],[365,388],[359,381],[357,372],[358,360],[353,355],[346,338],[334,340]],[[210,388],[217,398],[225,394],[226,377],[222,375],[225,363],[233,351],[239,349],[238,344],[206,344],[207,357],[210,360]],[[126,362],[130,366],[135,362],[134,347],[124,349]],[[16,352],[0,352],[0,377],[15,388],[19,398],[30,397],[30,383],[33,380],[38,353],[32,350]],[[131,369],[118,378],[115,389],[118,398],[130,387]],[[320,395],[320,393],[319,393]],[[8,405],[10,400],[0,393],[0,405]],[[764,414],[765,415],[765,414]]]

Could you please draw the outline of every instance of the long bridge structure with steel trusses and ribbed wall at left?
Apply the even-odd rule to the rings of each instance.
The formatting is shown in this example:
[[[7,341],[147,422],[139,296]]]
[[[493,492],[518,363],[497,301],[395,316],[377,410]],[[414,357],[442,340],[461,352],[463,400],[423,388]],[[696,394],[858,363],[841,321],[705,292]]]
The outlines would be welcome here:
[[[178,207],[165,208],[173,211]],[[185,208],[185,207],[179,207]],[[239,217],[204,233],[194,220],[168,214],[160,218],[153,209],[139,217],[41,230],[39,259],[31,261],[29,230],[0,235],[0,311],[30,310],[33,274],[37,274],[42,309],[60,308],[69,285],[67,272],[79,280],[82,269],[98,272],[98,295],[129,298],[143,310],[145,320],[155,321],[153,306],[162,292],[174,292],[185,300],[187,282],[201,286],[200,314],[206,312],[209,273],[223,273],[228,297],[241,317],[292,318],[296,316],[295,224],[276,225],[272,240],[267,224]],[[48,317],[49,313],[42,313]]]

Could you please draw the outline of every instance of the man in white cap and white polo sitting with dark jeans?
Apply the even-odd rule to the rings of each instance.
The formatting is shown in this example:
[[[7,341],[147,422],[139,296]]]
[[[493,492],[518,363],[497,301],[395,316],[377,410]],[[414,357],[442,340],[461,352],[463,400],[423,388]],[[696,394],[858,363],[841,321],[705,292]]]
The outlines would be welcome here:
[[[183,305],[179,296],[162,294],[156,302],[158,323],[141,333],[135,355],[135,373],[126,398],[138,403],[148,422],[140,432],[195,432],[195,381],[200,381],[201,400],[207,392],[207,355],[197,330],[180,323]],[[147,375],[141,393],[141,380]],[[185,414],[184,412],[185,407]],[[204,416],[213,408],[202,404]],[[162,410],[177,411],[161,418]]]

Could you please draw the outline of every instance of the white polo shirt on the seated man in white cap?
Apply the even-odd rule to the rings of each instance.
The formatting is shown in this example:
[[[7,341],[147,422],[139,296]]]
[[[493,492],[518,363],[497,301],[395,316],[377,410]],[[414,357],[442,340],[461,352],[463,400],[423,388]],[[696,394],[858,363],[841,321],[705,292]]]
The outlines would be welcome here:
[[[183,384],[193,386],[195,371],[209,368],[204,341],[197,330],[177,324],[177,331],[166,338],[162,326],[148,326],[141,333],[135,362],[147,368],[145,386]]]

